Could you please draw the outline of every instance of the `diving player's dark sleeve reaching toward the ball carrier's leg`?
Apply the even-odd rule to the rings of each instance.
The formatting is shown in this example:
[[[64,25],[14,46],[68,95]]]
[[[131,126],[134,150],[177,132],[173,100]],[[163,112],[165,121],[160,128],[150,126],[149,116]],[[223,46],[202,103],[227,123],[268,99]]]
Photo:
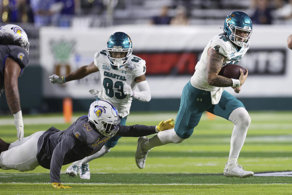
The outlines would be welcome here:
[[[155,126],[146,126],[146,125],[131,125],[125,126],[120,125],[116,136],[121,137],[141,137],[147,136],[156,133]]]

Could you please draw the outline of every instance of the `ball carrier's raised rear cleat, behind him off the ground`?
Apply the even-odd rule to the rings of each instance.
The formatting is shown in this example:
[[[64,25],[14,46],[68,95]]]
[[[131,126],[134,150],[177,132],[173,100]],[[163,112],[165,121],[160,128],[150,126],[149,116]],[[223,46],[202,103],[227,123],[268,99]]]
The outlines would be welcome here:
[[[144,150],[144,148],[142,148],[142,145],[147,140],[149,140],[149,138],[147,138],[145,136],[138,138],[137,150],[136,150],[136,154],[135,154],[135,160],[136,160],[136,165],[139,168],[144,168],[147,154],[150,151],[150,150],[148,150],[148,151]]]

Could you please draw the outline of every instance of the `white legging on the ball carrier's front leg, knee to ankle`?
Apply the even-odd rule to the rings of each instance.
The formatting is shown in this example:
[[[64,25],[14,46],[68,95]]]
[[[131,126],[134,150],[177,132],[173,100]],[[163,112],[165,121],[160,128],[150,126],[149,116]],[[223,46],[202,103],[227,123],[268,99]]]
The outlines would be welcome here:
[[[231,112],[229,121],[234,123],[234,128],[231,134],[230,153],[227,165],[237,162],[251,119],[245,108],[239,107]]]

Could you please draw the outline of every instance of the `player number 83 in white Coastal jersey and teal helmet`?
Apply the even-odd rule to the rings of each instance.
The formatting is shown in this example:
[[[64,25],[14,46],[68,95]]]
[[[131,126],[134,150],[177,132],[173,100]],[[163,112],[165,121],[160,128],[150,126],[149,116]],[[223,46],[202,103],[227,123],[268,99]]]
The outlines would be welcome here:
[[[50,82],[63,84],[100,71],[103,89],[90,90],[90,93],[96,96],[96,100],[103,99],[114,104],[119,111],[120,125],[125,125],[133,98],[145,102],[151,99],[150,87],[145,78],[145,60],[132,55],[132,51],[130,37],[123,32],[116,32],[109,37],[106,49],[96,52],[94,61],[88,66],[82,66],[67,76],[52,75]],[[139,90],[134,91],[134,86]],[[112,137],[100,151],[70,165],[66,173],[75,177],[80,170],[82,179],[90,179],[88,162],[108,153],[119,139],[119,136]]]

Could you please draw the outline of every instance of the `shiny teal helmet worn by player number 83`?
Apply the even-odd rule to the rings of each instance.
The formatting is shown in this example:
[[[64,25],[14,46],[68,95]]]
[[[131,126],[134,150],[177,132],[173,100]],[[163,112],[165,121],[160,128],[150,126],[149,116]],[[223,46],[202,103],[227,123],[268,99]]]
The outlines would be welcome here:
[[[107,57],[109,58],[110,64],[117,66],[118,69],[128,62],[132,51],[132,41],[126,33],[116,32],[107,40]],[[119,52],[119,54],[115,52]]]

